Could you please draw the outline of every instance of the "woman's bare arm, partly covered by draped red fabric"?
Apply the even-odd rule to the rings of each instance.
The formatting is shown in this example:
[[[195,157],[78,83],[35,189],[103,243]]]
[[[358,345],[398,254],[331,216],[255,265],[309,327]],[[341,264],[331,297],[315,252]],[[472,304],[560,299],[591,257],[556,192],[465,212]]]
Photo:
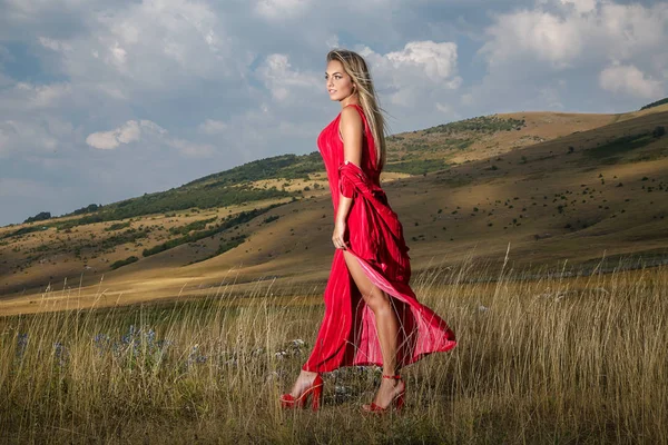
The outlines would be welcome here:
[[[362,165],[362,118],[353,107],[345,107],[341,111],[341,136],[343,138],[343,157],[346,162],[352,162],[357,167]],[[345,234],[345,221],[353,204],[352,197],[338,192],[338,211],[336,212],[334,234],[332,241],[337,249],[345,248],[343,239]]]

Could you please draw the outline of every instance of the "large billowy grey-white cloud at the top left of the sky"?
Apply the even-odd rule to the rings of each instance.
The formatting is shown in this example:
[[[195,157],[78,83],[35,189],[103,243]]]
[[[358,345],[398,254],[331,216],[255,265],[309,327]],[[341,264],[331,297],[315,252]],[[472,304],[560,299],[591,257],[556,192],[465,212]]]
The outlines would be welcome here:
[[[235,40],[225,34],[215,4],[204,0],[70,8],[90,32],[38,40],[60,56],[57,68],[72,85],[114,99],[193,90],[203,80],[238,76],[252,61],[245,50],[233,50]]]

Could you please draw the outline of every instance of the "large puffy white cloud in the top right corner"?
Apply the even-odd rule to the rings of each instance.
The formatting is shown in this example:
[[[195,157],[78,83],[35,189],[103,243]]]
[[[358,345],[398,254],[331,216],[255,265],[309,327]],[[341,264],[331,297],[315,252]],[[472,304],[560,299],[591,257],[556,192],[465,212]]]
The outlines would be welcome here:
[[[488,41],[479,50],[490,68],[517,69],[518,61],[532,60],[563,69],[584,59],[625,60],[666,51],[668,3],[644,7],[559,0],[556,6],[564,8],[546,11],[539,6],[497,14],[485,29]]]

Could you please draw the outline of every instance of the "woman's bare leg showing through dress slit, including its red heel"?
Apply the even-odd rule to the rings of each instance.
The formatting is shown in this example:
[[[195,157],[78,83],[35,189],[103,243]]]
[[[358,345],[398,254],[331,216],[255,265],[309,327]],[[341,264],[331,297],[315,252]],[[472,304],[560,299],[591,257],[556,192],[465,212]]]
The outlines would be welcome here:
[[[355,285],[364,298],[364,303],[373,312],[376,322],[381,353],[383,355],[383,374],[396,374],[396,349],[399,339],[399,318],[394,310],[392,299],[386,293],[374,285],[357,261],[353,254],[343,251],[348,271],[355,281]],[[401,385],[401,386],[400,386]],[[392,398],[403,389],[403,383],[399,380],[382,378],[381,388],[376,393],[374,403],[385,407],[392,402]]]

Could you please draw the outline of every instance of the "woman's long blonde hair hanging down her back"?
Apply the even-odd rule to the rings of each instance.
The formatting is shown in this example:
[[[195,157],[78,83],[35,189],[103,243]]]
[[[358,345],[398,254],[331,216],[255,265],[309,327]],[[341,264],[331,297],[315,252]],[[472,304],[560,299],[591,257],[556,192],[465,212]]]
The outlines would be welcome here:
[[[376,167],[382,170],[385,165],[385,134],[387,128],[366,61],[358,53],[347,49],[331,50],[327,53],[327,62],[332,60],[338,60],[345,72],[353,79],[360,105],[364,110],[364,116],[366,116],[369,128],[373,135],[376,149]]]

